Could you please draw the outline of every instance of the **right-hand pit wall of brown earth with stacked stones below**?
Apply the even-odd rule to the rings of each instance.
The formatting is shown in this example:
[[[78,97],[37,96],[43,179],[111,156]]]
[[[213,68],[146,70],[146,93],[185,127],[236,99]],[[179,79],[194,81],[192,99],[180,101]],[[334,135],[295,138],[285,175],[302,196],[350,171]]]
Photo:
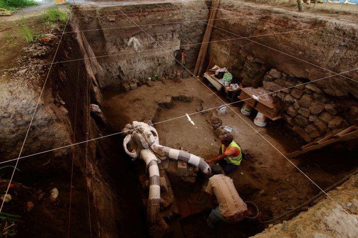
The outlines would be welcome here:
[[[358,125],[357,27],[250,3],[219,7],[231,12],[216,16],[212,65],[229,68],[244,87],[279,91],[272,95],[288,106],[283,119],[306,142]]]

